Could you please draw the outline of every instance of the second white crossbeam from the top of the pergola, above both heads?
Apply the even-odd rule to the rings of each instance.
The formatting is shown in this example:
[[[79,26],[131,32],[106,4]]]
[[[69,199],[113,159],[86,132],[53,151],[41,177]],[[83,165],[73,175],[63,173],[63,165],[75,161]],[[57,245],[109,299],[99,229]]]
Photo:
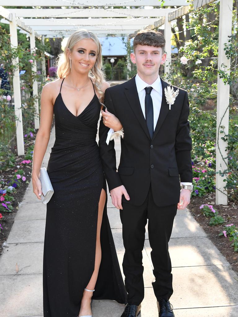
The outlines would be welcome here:
[[[56,17],[56,18],[85,18],[85,17],[159,17],[165,16],[174,9],[8,9],[9,12],[15,13],[16,16],[30,18],[30,17]]]

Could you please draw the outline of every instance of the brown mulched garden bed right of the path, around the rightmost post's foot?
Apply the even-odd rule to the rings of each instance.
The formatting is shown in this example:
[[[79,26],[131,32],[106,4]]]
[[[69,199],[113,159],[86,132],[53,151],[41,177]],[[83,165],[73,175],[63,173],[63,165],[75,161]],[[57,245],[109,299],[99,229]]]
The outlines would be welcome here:
[[[219,215],[225,219],[224,224],[210,226],[209,221],[211,217],[205,217],[201,213],[200,206],[202,204],[213,205],[213,208],[219,212]],[[233,223],[238,227],[238,205],[229,203],[228,206],[215,205],[215,193],[207,194],[203,197],[192,197],[188,205],[188,209],[193,215],[194,219],[199,223],[202,229],[206,232],[209,239],[231,264],[233,270],[238,274],[238,252],[231,247],[229,238],[224,235],[218,236],[220,232],[225,229],[225,225]]]

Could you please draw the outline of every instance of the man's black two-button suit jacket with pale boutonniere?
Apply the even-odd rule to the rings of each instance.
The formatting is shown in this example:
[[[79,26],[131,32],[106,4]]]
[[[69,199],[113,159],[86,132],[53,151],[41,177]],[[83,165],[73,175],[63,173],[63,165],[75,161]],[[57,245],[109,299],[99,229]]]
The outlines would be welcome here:
[[[164,88],[169,84],[162,79],[161,82],[162,104],[152,139],[142,113],[135,77],[105,91],[104,104],[121,121],[124,139],[121,139],[121,159],[116,171],[114,141],[106,144],[109,128],[101,120],[99,149],[103,170],[109,190],[123,184],[130,200],[122,196],[122,201],[137,206],[145,201],[150,184],[155,204],[167,206],[179,202],[180,180],[192,182],[188,93],[179,89],[169,110],[164,95]]]

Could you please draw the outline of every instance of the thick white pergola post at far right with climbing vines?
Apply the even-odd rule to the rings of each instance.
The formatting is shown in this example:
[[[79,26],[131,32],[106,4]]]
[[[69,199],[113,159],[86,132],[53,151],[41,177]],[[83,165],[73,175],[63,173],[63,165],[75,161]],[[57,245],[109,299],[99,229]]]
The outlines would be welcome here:
[[[220,2],[220,19],[219,19],[219,47],[218,47],[218,69],[223,69],[223,65],[227,68],[228,74],[230,73],[230,59],[228,60],[225,51],[224,43],[228,42],[228,36],[232,33],[232,5],[233,0],[221,0]],[[224,171],[227,169],[228,160],[223,158],[227,157],[225,151],[227,142],[221,139],[222,136],[228,134],[229,129],[229,95],[230,86],[225,85],[218,77],[217,79],[217,123],[216,123],[216,172]],[[227,109],[228,108],[228,109]],[[227,109],[227,110],[226,110]],[[225,113],[226,112],[226,113]],[[225,115],[224,115],[225,113]],[[224,131],[224,133],[220,133]],[[220,150],[219,150],[220,149]],[[227,205],[227,190],[224,186],[227,184],[223,182],[225,178],[216,174],[216,204]],[[219,191],[219,190],[220,191]]]

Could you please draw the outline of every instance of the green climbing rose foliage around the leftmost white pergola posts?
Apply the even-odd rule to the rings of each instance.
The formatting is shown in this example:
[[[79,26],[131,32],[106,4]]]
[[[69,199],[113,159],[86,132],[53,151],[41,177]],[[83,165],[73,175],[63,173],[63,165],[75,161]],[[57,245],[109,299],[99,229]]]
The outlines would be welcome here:
[[[23,133],[34,131],[34,119],[36,116],[35,103],[40,100],[39,95],[33,95],[33,82],[36,80],[38,83],[38,92],[40,94],[45,79],[42,75],[35,74],[32,71],[32,62],[40,62],[47,49],[39,40],[36,40],[38,46],[36,52],[30,52],[30,42],[26,36],[19,34],[18,47],[11,48],[10,36],[8,26],[4,25],[0,28],[0,61],[4,65],[5,71],[9,75],[10,88],[0,89],[0,163],[1,170],[12,167],[14,165],[14,157],[16,155],[16,116],[15,109],[12,105],[13,97],[13,74],[18,66],[20,70],[25,70],[25,73],[20,75],[21,84],[21,101],[22,101],[22,120],[23,120]],[[13,60],[18,63],[13,66]],[[7,96],[7,97],[6,97]]]

